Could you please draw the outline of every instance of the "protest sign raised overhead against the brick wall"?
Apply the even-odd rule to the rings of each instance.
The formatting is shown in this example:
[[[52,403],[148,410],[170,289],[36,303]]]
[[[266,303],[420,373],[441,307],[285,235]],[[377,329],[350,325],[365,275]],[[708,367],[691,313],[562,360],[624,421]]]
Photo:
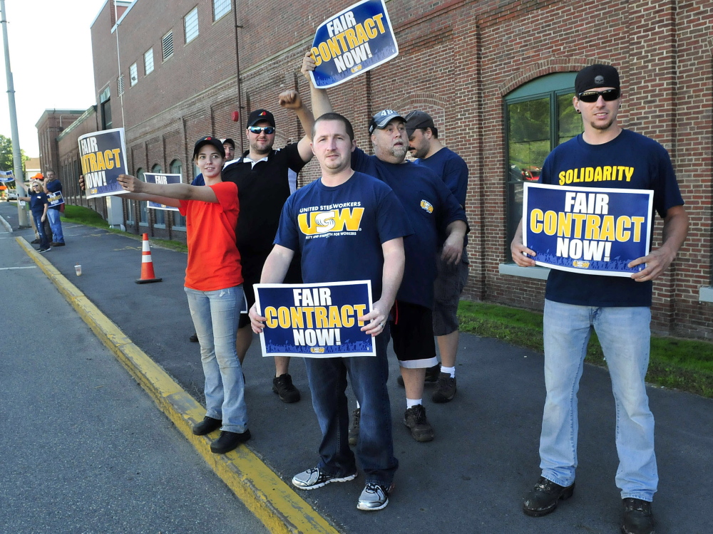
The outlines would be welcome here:
[[[326,89],[399,55],[384,0],[364,0],[324,21],[312,42],[314,87]]]

